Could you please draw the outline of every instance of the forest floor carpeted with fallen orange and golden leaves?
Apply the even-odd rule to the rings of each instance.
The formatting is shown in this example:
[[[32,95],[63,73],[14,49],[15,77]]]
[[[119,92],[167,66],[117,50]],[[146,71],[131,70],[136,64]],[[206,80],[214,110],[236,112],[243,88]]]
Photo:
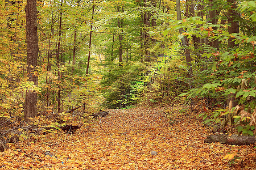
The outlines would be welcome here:
[[[210,129],[179,110],[109,110],[73,135],[61,131],[9,143],[0,152],[0,169],[256,169],[255,145],[204,143]]]

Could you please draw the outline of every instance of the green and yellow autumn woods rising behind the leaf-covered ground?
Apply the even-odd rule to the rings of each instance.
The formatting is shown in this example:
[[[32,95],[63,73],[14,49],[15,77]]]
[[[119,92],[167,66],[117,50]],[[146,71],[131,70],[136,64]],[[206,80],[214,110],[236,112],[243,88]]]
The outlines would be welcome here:
[[[6,136],[79,128],[100,109],[138,103],[179,103],[216,131],[256,134],[255,1],[0,5],[0,125]]]

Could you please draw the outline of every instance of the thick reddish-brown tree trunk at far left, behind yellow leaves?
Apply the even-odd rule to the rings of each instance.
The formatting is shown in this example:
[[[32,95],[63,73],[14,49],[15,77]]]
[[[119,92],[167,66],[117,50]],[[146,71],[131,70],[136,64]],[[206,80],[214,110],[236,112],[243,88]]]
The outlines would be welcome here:
[[[36,22],[36,0],[27,0],[26,11],[26,42],[27,42],[27,74],[28,80],[38,85],[38,76],[34,74],[38,64],[38,24]],[[24,118],[36,116],[38,96],[35,91],[27,90],[24,103]]]

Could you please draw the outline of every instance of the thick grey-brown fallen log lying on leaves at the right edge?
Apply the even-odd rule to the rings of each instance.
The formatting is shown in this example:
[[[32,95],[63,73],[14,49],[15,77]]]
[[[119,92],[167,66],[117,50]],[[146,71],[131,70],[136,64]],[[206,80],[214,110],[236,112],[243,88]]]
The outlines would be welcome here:
[[[255,136],[238,136],[238,135],[226,135],[226,134],[212,134],[204,139],[204,143],[220,142],[228,145],[250,145],[256,143]]]

